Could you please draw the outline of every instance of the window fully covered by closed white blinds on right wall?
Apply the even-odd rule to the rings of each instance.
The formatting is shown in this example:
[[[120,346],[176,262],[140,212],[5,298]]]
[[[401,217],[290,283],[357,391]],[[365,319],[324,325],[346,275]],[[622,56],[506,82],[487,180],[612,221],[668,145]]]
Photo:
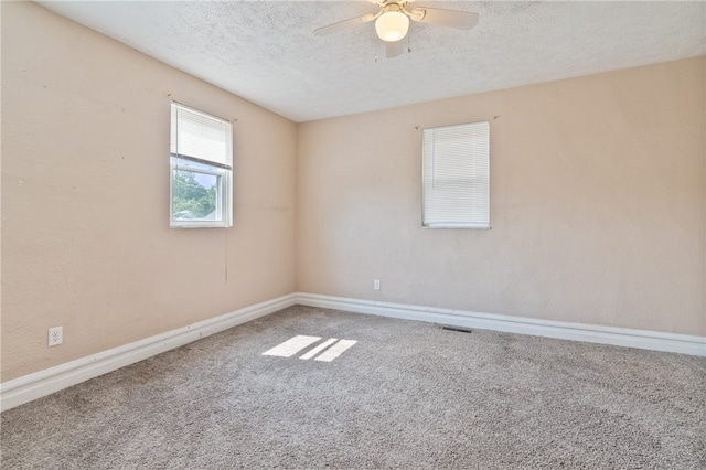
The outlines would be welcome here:
[[[490,122],[422,131],[421,224],[490,228]]]

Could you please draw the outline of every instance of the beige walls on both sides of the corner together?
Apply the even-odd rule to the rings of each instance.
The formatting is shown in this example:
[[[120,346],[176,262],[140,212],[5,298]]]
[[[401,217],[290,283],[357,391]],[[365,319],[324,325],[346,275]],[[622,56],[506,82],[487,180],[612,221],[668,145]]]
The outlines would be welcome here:
[[[295,290],[705,335],[705,72],[296,126],[3,2],[1,381]],[[231,229],[168,228],[169,94],[238,119]],[[420,228],[420,129],[481,119],[493,229]]]

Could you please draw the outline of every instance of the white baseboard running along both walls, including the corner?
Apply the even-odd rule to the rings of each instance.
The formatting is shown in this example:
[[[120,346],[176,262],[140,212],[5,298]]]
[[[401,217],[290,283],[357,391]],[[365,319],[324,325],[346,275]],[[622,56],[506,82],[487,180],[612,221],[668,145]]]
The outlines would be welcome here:
[[[14,408],[297,303],[404,320],[706,356],[706,337],[535,320],[298,292],[8,381],[0,384],[0,409]]]

